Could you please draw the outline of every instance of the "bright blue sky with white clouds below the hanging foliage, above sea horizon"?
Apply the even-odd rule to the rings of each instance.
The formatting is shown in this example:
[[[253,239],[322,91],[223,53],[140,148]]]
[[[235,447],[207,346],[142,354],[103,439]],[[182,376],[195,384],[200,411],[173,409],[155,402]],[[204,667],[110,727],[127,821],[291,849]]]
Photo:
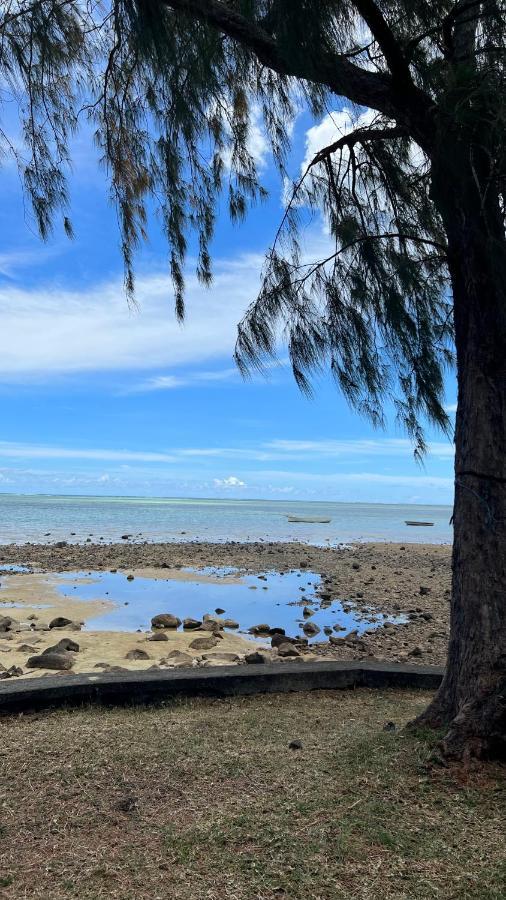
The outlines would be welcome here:
[[[339,121],[299,117],[294,176]],[[267,379],[236,371],[235,326],[282,215],[259,126],[252,149],[269,200],[240,227],[219,217],[214,284],[201,287],[189,263],[183,327],[156,227],[138,257],[138,308],[128,308],[115,214],[86,136],[71,179],[74,241],[56,231],[42,244],[15,168],[0,169],[0,491],[451,502],[453,448],[441,434],[428,430],[421,468],[392,420],[374,431],[329,378],[307,400],[282,354]],[[309,249],[322,240],[315,222]]]

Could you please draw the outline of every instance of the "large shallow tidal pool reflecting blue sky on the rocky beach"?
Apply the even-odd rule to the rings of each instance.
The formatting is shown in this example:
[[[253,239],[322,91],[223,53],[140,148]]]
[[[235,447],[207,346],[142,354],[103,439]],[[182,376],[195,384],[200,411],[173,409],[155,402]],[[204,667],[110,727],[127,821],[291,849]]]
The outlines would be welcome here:
[[[199,581],[199,576],[213,576],[214,580]],[[167,579],[136,576],[128,580],[126,572],[72,572],[58,576],[55,587],[71,600],[107,600],[115,604],[114,609],[87,619],[86,628],[91,631],[145,630],[158,613],[201,619],[205,613],[214,614],[221,609],[225,611],[224,618],[239,622],[240,633],[267,623],[271,628],[284,628],[287,634],[296,635],[305,621],[314,622],[321,629],[320,634],[310,638],[314,642],[325,640],[325,626],[339,625],[343,635],[350,631],[360,634],[385,622],[404,621],[404,617],[389,617],[352,601],[336,600],[321,609],[316,594],[320,580],[318,574],[306,570],[241,575],[237,569],[205,568],[182,569],[179,578]],[[310,618],[303,617],[301,601],[315,610]]]

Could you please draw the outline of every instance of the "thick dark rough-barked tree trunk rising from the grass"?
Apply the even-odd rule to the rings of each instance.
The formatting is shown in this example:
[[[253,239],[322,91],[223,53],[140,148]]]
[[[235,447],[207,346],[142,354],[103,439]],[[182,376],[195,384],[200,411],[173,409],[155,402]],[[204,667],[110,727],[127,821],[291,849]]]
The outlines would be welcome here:
[[[453,583],[446,675],[418,721],[449,726],[448,757],[505,758],[506,242],[479,167],[462,171],[458,179],[447,171],[439,194],[435,181],[457,353]]]

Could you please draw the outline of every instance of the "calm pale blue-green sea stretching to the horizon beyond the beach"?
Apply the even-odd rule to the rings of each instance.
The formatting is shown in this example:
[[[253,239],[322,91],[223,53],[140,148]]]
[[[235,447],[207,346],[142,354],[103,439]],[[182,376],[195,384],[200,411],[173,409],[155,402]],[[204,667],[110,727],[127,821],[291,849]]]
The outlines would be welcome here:
[[[0,543],[118,541],[123,534],[148,541],[447,543],[451,514],[449,506],[0,494]],[[331,522],[291,523],[288,516]],[[413,528],[406,519],[434,526]]]

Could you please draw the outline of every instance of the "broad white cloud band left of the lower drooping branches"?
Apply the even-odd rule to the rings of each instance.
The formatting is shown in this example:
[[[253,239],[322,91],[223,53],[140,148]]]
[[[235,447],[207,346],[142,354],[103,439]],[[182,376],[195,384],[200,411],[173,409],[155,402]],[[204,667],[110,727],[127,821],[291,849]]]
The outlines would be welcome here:
[[[152,371],[231,358],[237,323],[259,287],[262,259],[243,255],[218,260],[210,290],[189,277],[183,326],[171,308],[170,281],[161,274],[139,277],[138,311],[128,309],[119,279],[82,291],[4,286],[0,378],[12,382],[90,371]]]

